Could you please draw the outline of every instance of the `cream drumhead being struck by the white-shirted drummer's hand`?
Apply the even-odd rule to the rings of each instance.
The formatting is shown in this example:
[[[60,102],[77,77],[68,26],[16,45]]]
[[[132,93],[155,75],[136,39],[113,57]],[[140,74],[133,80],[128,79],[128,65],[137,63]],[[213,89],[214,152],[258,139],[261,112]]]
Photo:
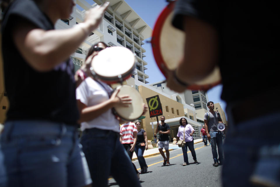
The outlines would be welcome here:
[[[118,116],[125,120],[133,121],[138,119],[143,113],[143,99],[140,93],[131,86],[122,85],[116,89],[120,89],[118,96],[129,95],[132,98],[132,104],[129,107],[115,107]]]

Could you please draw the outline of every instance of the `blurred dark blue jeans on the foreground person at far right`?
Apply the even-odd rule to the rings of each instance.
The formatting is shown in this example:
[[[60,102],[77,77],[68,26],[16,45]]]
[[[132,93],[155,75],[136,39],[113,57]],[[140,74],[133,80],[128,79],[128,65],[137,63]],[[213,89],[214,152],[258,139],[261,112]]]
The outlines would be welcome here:
[[[234,123],[229,107],[227,114],[230,128],[224,144],[223,186],[255,186],[253,178],[280,185],[280,112],[260,112],[239,123]]]

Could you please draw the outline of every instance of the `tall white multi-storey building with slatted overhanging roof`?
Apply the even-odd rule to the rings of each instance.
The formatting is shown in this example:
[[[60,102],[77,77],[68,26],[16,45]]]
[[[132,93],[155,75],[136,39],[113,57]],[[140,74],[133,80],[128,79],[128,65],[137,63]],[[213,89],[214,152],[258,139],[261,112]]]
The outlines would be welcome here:
[[[124,0],[106,1],[110,2],[110,5],[104,13],[99,27],[71,55],[73,62],[76,64],[76,69],[82,65],[87,50],[93,44],[103,41],[109,46],[123,46],[135,53],[137,63],[132,78],[146,84],[148,83],[146,79],[149,76],[145,73],[147,69],[145,65],[148,63],[144,60],[146,50],[143,48],[143,40],[151,36],[152,29]],[[55,28],[70,28],[83,22],[85,11],[102,3],[104,2],[99,0],[76,0],[76,6],[71,17],[67,20],[59,20]],[[132,79],[127,82],[131,85],[134,84]]]

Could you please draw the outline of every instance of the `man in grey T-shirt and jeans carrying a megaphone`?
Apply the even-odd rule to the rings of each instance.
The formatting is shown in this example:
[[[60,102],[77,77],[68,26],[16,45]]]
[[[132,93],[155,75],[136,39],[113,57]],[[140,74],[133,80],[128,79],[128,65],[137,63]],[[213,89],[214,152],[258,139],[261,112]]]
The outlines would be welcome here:
[[[223,123],[223,120],[221,119],[221,116],[219,112],[214,111],[214,103],[212,101],[209,101],[207,103],[207,107],[209,108],[209,112],[206,112],[204,114],[204,125],[206,130],[207,138],[211,142],[211,148],[212,148],[212,155],[214,159],[214,166],[218,167],[218,162],[220,162],[220,165],[223,164],[223,132],[224,126],[221,124]],[[218,154],[217,154],[217,147],[218,147]],[[219,155],[219,159],[218,159]]]

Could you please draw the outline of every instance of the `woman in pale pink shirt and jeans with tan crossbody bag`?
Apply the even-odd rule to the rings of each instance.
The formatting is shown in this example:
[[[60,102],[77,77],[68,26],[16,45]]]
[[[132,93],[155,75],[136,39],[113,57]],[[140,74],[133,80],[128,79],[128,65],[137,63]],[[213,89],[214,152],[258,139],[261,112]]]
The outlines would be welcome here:
[[[194,148],[193,137],[192,137],[193,133],[195,132],[195,129],[193,129],[193,127],[190,124],[188,124],[186,118],[184,117],[180,119],[179,123],[181,126],[178,129],[176,143],[178,143],[178,140],[185,141],[185,146],[182,147],[183,157],[185,162],[183,163],[183,166],[189,165],[187,148],[189,148],[190,152],[192,153],[192,158],[195,161],[194,163],[198,163],[196,160],[195,148]]]

